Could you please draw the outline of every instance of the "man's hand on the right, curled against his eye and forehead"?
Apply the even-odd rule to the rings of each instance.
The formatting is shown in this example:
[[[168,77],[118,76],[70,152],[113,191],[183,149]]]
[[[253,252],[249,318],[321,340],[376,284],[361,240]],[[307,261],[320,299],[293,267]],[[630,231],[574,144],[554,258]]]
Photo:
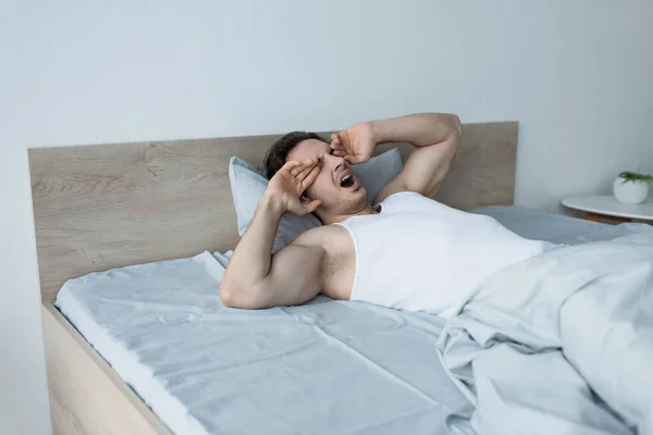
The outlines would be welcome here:
[[[372,122],[355,124],[331,135],[333,154],[352,164],[365,163],[372,157],[378,140]]]

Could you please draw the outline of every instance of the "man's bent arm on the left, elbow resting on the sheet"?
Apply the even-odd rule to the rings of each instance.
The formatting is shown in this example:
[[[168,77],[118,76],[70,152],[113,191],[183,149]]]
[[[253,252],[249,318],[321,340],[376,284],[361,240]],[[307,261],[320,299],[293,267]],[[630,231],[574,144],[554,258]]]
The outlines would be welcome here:
[[[285,212],[306,214],[319,201],[299,197],[319,173],[318,161],[288,162],[270,181],[249,227],[241,238],[220,285],[220,298],[234,308],[269,308],[304,303],[320,291],[323,248],[301,245],[306,237],[271,254],[279,221]]]

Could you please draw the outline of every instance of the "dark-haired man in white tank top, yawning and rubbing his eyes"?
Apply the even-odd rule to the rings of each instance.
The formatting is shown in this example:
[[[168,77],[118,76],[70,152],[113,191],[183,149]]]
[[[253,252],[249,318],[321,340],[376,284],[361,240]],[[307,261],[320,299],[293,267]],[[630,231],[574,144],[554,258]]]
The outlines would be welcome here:
[[[546,243],[523,239],[489,216],[428,197],[445,178],[461,127],[454,114],[421,113],[355,124],[332,135],[295,132],[266,158],[264,197],[229,263],[225,304],[260,309],[333,299],[451,315],[484,277],[538,254]],[[352,171],[379,144],[415,146],[403,171],[373,207]],[[324,225],[271,254],[281,216],[316,213]]]

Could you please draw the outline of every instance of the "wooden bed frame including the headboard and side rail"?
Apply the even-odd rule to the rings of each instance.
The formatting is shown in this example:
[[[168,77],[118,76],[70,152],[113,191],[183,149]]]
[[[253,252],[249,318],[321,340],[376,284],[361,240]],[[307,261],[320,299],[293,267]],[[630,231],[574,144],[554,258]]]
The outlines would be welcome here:
[[[279,137],[28,150],[54,434],[171,434],[52,303],[72,277],[232,249],[229,160],[260,164]],[[460,209],[512,204],[517,123],[465,125],[463,137],[435,198]],[[379,152],[393,146],[405,159],[406,144]]]

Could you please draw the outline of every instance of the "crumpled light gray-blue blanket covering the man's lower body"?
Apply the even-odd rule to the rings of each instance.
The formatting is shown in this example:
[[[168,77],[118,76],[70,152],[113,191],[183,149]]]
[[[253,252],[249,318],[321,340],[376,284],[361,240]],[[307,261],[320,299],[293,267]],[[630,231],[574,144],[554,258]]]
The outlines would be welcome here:
[[[653,434],[653,233],[493,275],[439,350],[476,433]]]

